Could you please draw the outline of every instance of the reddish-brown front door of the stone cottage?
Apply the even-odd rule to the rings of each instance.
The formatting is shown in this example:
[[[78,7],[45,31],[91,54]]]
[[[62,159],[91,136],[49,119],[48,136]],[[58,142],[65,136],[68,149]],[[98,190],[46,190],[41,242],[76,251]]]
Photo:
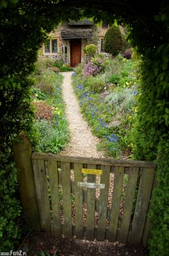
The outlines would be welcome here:
[[[81,63],[81,40],[70,40],[70,64],[75,67]]]

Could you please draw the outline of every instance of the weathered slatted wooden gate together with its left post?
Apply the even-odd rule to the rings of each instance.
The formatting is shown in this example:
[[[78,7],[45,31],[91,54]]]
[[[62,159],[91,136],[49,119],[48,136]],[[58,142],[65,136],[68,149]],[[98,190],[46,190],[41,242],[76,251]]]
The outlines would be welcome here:
[[[29,140],[13,152],[25,217],[35,230],[147,246],[155,164],[32,154]]]

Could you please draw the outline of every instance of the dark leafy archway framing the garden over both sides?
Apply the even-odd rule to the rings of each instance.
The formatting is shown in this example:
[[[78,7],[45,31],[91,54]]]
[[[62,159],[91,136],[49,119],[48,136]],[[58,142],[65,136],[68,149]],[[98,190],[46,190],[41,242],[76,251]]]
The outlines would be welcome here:
[[[49,32],[62,20],[93,16],[95,22],[127,24],[129,39],[142,54],[142,72],[137,123],[133,130],[134,157],[157,163],[157,188],[150,210],[150,255],[169,254],[169,6],[167,0],[2,0],[0,1],[0,155],[1,188],[0,244],[12,248],[19,230],[14,230],[19,212],[13,214],[17,181],[10,193],[7,181],[15,176],[12,139],[21,130],[31,130],[32,109],[26,77],[33,71],[37,51]],[[12,111],[10,111],[12,109]],[[26,111],[25,111],[26,110]],[[8,155],[7,155],[8,152]],[[10,176],[11,177],[11,176]],[[16,177],[16,176],[15,176]],[[7,194],[5,194],[7,193]],[[16,202],[5,207],[7,198]],[[19,209],[19,207],[17,207]],[[9,221],[11,220],[11,221]],[[5,228],[4,228],[5,227]],[[5,229],[8,232],[5,233]],[[13,237],[13,238],[12,238]],[[12,240],[13,239],[13,240]],[[10,242],[10,244],[9,244]],[[1,248],[2,249],[2,248]]]

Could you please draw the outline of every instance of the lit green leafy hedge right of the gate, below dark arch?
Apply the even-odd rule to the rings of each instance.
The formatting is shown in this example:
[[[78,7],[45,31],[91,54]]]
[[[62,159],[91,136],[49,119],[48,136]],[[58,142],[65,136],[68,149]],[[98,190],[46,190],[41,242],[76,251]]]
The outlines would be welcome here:
[[[169,25],[167,15],[156,16],[161,33]],[[167,30],[166,30],[167,34]],[[133,43],[143,32],[132,34]],[[157,187],[150,209],[150,255],[169,254],[169,37],[143,40],[137,51],[142,54],[141,87],[137,123],[133,130],[134,157],[157,164]],[[163,42],[161,42],[163,40]]]

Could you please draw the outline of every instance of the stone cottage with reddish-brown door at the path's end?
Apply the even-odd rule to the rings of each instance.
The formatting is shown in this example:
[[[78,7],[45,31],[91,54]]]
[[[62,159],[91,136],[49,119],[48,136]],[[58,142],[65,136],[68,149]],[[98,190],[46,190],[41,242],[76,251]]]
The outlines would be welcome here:
[[[89,19],[69,21],[65,25],[59,25],[49,34],[49,40],[43,44],[42,56],[56,60],[63,59],[64,63],[72,67],[85,63],[83,48],[86,44],[95,43],[97,53],[103,53],[103,37],[108,27],[105,23],[96,26]]]

